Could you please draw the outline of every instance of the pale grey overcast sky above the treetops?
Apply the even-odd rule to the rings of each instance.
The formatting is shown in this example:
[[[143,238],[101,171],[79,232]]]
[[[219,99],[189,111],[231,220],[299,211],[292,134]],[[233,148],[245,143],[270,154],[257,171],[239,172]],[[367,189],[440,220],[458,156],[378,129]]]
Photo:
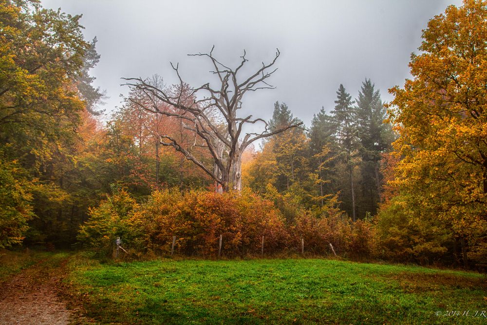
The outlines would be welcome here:
[[[364,78],[380,89],[404,85],[410,54],[421,44],[421,30],[434,15],[460,0],[42,0],[47,8],[83,14],[85,37],[98,39],[100,62],[92,70],[95,85],[110,96],[104,109],[120,105],[120,77],[159,74],[176,82],[169,62],[192,86],[210,80],[208,52],[230,65],[243,49],[251,72],[281,51],[269,79],[277,87],[248,93],[241,115],[268,120],[276,100],[310,125],[323,106],[330,111],[343,83],[356,98]]]

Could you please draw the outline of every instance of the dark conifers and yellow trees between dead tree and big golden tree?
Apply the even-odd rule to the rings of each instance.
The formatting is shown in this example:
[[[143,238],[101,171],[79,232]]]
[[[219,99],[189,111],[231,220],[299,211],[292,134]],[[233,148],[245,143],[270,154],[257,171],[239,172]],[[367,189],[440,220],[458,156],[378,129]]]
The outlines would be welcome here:
[[[353,221],[375,215],[388,168],[382,158],[394,139],[385,118],[379,90],[370,79],[362,83],[356,100],[340,85],[330,114],[322,108],[309,130],[295,128],[264,142],[262,152],[245,164],[244,181],[260,193],[272,187],[312,210],[337,196],[340,209]],[[275,103],[271,130],[296,122],[285,103]]]

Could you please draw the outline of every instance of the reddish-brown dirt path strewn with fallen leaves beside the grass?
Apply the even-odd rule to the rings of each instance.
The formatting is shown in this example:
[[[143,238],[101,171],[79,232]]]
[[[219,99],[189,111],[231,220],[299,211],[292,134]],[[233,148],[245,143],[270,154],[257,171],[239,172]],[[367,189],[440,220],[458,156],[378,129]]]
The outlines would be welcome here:
[[[59,297],[62,264],[45,259],[0,284],[0,324],[64,325],[75,313]]]

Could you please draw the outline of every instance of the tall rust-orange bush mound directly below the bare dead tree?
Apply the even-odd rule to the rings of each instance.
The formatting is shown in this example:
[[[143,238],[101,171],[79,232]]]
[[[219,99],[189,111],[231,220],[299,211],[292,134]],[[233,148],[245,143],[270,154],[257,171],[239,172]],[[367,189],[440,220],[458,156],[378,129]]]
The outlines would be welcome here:
[[[178,253],[203,256],[218,253],[220,235],[228,256],[259,252],[262,236],[266,251],[285,247],[287,238],[278,210],[247,190],[224,194],[156,191],[134,217],[145,219],[147,247],[163,253],[169,252],[172,236],[176,236]]]

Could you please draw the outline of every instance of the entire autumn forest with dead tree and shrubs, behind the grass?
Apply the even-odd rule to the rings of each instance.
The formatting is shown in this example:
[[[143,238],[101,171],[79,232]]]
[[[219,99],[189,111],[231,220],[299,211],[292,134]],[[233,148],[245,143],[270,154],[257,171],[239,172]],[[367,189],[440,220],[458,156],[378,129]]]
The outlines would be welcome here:
[[[270,120],[242,108],[274,88],[279,50],[249,74],[245,50],[228,67],[216,48],[191,58],[213,65],[203,85],[177,65],[170,85],[120,76],[103,120],[81,16],[1,0],[0,17],[1,249],[215,258],[220,240],[225,258],[487,267],[485,1],[428,22],[392,101],[339,84],[310,125],[281,100]]]

